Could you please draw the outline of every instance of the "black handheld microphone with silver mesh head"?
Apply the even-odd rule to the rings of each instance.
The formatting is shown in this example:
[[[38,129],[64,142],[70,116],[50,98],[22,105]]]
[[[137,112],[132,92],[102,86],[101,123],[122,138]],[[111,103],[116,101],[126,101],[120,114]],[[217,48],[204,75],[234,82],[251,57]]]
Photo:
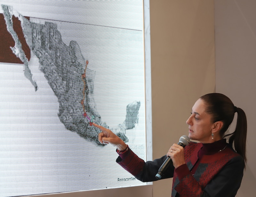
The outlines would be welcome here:
[[[180,137],[180,141],[178,142],[178,144],[184,148],[189,144],[189,142],[190,142],[189,137],[187,135],[182,135]],[[170,164],[172,164],[172,159],[170,157],[167,157],[156,174],[157,180],[162,178],[164,172],[166,171],[166,169],[169,167]]]

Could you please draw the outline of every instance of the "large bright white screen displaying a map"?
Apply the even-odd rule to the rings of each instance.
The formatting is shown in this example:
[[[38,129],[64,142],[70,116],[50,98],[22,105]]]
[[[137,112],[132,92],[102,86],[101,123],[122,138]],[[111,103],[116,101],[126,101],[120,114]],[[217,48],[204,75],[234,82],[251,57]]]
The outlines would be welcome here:
[[[101,145],[92,126],[152,157],[144,8],[142,0],[1,0],[1,197],[150,184],[116,164],[116,148]]]

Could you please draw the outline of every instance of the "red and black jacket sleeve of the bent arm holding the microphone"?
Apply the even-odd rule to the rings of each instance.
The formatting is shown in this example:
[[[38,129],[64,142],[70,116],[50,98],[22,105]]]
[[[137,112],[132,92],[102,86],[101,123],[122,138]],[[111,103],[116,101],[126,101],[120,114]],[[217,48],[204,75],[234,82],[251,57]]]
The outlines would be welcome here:
[[[232,158],[220,172],[205,186],[201,188],[196,179],[188,174],[175,187],[180,197],[188,195],[198,197],[235,197],[241,185],[244,173],[244,160],[242,157]]]

